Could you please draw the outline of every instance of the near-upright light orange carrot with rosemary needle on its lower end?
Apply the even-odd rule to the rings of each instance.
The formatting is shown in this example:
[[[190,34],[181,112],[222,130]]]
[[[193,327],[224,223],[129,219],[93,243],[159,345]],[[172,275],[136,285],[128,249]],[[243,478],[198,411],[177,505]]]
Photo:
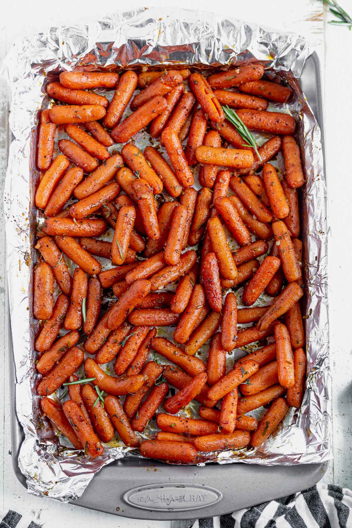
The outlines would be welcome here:
[[[133,206],[123,205],[119,210],[111,246],[111,262],[113,264],[121,265],[126,260],[135,218],[136,210]]]

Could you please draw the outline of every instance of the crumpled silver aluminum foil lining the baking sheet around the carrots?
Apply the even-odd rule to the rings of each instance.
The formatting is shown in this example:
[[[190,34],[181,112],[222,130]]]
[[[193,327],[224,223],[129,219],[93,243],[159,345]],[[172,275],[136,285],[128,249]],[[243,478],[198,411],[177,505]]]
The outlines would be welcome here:
[[[33,242],[37,213],[33,196],[37,175],[31,138],[36,133],[37,110],[47,100],[42,91],[45,76],[79,65],[120,69],[185,64],[226,69],[231,63],[260,60],[269,78],[279,76],[291,86],[294,97],[284,111],[298,121],[307,179],[301,196],[307,390],[301,409],[290,409],[278,432],[263,446],[205,453],[199,465],[239,461],[292,465],[331,458],[326,179],[319,126],[295,79],[300,77],[310,53],[308,44],[297,35],[234,18],[176,8],[141,8],[115,13],[88,25],[51,27],[17,42],[6,56],[0,74],[12,91],[9,124],[14,135],[4,192],[7,277],[17,379],[16,411],[25,434],[18,464],[30,493],[61,501],[78,498],[104,465],[124,456],[138,456],[118,441],[94,460],[58,447],[57,438],[53,438],[40,416],[33,390],[37,379],[33,347],[37,323],[31,318],[29,307],[36,258]],[[153,433],[153,427],[151,422],[148,435]]]

